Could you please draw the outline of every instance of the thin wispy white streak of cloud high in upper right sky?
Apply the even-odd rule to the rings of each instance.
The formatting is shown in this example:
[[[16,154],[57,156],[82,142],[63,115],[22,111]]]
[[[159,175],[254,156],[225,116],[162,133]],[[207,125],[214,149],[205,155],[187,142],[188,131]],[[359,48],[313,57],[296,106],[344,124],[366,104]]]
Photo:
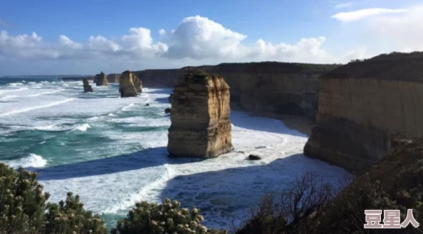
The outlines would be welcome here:
[[[382,14],[398,14],[398,13],[404,13],[407,11],[409,10],[408,9],[370,8],[370,9],[360,9],[358,11],[339,12],[338,14],[333,15],[331,18],[335,18],[338,21],[350,22],[350,21],[360,21],[370,16],[377,16]]]

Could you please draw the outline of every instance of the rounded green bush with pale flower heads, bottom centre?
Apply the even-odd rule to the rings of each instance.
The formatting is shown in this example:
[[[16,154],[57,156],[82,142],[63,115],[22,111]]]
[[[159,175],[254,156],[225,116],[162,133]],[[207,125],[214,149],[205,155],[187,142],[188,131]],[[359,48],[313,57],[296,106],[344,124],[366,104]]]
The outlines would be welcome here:
[[[201,224],[204,220],[197,208],[181,208],[179,201],[165,199],[162,204],[136,203],[127,218],[117,221],[113,234],[226,234],[226,230],[213,230]]]

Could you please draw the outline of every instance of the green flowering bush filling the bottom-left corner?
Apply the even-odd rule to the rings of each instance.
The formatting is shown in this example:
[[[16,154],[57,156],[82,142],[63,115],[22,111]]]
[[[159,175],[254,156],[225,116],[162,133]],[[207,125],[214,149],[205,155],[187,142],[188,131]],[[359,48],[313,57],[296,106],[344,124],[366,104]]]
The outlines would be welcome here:
[[[66,201],[46,203],[49,194],[43,193],[37,176],[0,162],[0,234],[108,233],[104,221],[85,211],[72,193]]]

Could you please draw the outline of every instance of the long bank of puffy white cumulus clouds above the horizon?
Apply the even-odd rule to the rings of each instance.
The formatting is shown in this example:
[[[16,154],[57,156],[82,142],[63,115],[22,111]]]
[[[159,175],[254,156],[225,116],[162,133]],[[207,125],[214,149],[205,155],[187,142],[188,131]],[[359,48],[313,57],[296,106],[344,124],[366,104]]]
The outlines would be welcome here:
[[[112,64],[115,64],[113,68],[119,64],[120,70],[126,70],[125,65],[130,64],[137,65],[135,69],[142,69],[151,67],[141,65],[155,68],[159,65],[169,68],[172,65],[175,68],[261,60],[307,63],[337,61],[323,50],[325,37],[300,38],[293,44],[271,43],[260,38],[256,43],[245,43],[245,34],[202,16],[184,18],[173,30],[167,32],[160,29],[159,33],[159,41],[153,40],[150,29],[140,27],[130,28],[127,34],[113,38],[93,35],[87,41],[74,41],[62,34],[56,42],[47,42],[36,33],[11,35],[7,31],[0,31],[0,58],[32,60],[33,63],[57,60],[63,61],[63,66],[82,64],[84,68],[93,64],[95,71],[105,70],[102,66],[112,67]],[[7,68],[7,65],[3,66]],[[0,65],[0,70],[3,66]]]

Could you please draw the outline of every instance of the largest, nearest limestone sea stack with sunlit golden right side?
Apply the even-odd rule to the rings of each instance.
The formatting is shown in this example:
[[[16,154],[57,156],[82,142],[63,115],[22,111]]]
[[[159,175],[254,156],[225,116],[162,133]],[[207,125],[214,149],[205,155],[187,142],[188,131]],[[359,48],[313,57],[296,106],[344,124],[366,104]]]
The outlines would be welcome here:
[[[187,68],[174,85],[169,156],[207,159],[233,150],[229,99],[224,78]]]

